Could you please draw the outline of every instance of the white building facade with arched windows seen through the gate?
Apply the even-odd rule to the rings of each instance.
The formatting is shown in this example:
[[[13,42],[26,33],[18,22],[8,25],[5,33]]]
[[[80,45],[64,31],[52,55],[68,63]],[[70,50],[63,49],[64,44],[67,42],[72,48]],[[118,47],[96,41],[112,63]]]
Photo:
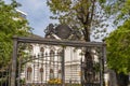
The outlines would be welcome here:
[[[66,83],[80,83],[80,59],[82,57],[80,53],[81,49],[65,47]],[[30,57],[24,64],[22,80],[26,80],[26,83],[49,83],[53,78],[62,80],[62,47],[31,44],[28,54]]]

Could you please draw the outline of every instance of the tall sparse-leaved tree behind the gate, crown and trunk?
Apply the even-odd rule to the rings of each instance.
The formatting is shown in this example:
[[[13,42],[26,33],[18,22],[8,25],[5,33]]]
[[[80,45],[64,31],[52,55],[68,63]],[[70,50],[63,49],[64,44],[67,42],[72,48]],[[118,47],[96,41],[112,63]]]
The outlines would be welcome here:
[[[55,15],[51,16],[51,18],[58,19],[61,24],[67,24],[70,27],[76,26],[81,32],[83,40],[86,42],[90,42],[90,34],[92,34],[92,32],[95,34],[99,32],[106,32],[106,27],[108,25],[105,23],[105,20],[108,17],[104,10],[105,2],[105,0],[48,0],[48,5],[50,6],[51,12]],[[95,37],[98,38],[99,34]],[[91,49],[86,48],[86,83],[93,83],[94,76],[90,52]]]

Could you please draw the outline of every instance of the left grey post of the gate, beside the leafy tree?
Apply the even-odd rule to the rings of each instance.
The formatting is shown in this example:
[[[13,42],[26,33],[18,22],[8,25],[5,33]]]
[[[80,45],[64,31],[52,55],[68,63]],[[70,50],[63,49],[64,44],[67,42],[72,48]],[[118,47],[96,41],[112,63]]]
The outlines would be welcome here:
[[[13,38],[11,86],[16,86],[16,58],[17,58],[17,38]]]

